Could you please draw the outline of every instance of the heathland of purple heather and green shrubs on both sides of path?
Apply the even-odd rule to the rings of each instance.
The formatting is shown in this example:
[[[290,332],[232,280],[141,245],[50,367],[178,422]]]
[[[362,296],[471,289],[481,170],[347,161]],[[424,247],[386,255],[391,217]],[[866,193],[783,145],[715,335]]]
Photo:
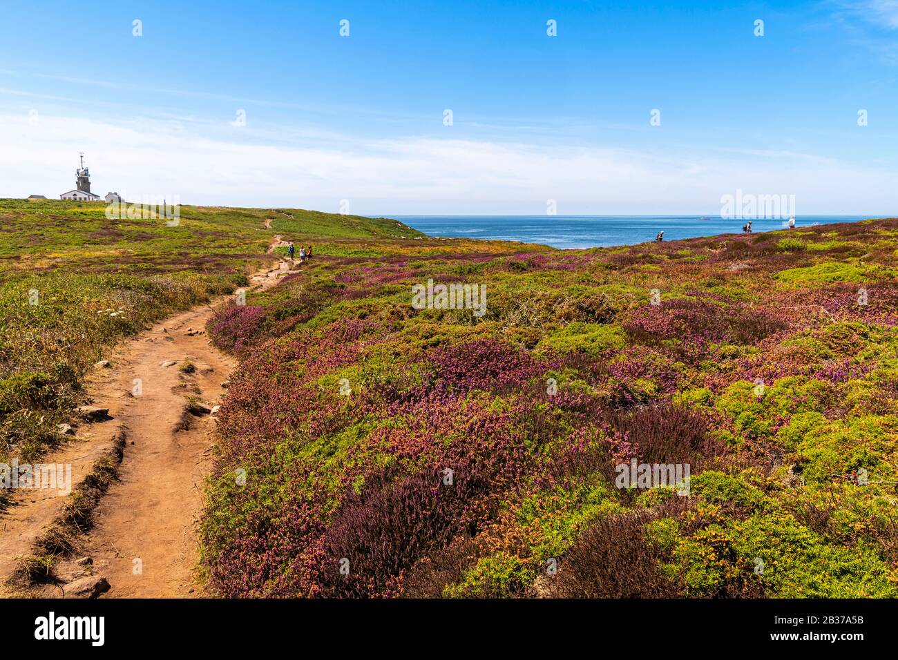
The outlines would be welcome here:
[[[29,456],[104,346],[245,286],[266,223],[313,244],[207,326],[240,361],[214,594],[898,595],[898,220],[588,251],[290,209],[0,220],[2,449]],[[688,483],[621,488],[632,462]]]

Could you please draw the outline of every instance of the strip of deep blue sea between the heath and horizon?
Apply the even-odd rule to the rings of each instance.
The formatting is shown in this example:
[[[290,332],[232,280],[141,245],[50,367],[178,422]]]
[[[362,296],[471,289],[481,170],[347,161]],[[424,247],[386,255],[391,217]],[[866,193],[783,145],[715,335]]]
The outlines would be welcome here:
[[[665,241],[718,233],[741,233],[742,219],[719,216],[390,216],[431,236],[452,236],[594,248]],[[796,216],[797,228],[813,224],[850,223],[876,216]],[[785,220],[753,220],[754,233],[783,229]]]

